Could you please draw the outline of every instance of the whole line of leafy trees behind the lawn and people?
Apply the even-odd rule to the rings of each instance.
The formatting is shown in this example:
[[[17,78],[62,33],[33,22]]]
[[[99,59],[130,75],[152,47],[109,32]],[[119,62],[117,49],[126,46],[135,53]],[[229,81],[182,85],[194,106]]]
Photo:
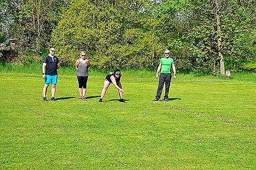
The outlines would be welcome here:
[[[49,45],[64,65],[85,50],[92,65],[156,69],[168,48],[179,71],[225,74],[256,61],[254,0],[9,0],[0,40],[42,59]]]

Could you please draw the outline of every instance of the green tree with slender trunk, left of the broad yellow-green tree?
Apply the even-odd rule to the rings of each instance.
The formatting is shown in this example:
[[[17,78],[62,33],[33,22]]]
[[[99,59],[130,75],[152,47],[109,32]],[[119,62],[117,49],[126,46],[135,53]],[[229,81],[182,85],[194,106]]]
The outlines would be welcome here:
[[[47,48],[52,29],[60,19],[61,8],[66,4],[64,0],[16,1],[19,11],[9,33],[18,39],[21,53],[31,49],[39,53],[40,49]]]

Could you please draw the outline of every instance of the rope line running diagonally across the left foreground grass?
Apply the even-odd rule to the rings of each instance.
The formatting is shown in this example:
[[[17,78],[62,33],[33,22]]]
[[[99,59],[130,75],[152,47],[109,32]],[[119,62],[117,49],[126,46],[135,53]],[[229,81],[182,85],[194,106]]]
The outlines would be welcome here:
[[[65,131],[65,133],[68,133],[68,134],[72,135],[73,138],[76,138],[76,139],[78,139],[79,141],[81,141],[81,142],[83,142],[83,143],[86,143],[86,145],[88,145],[88,146],[94,148],[95,150],[101,152],[102,154],[108,156],[109,158],[114,159],[116,162],[118,162],[118,163],[120,163],[120,164],[122,164],[122,165],[125,165],[127,168],[133,169],[133,168],[130,167],[129,164],[127,164],[127,163],[125,163],[125,162],[122,162],[121,160],[115,158],[113,155],[110,155],[108,152],[102,150],[101,148],[98,148],[97,146],[93,145],[92,143],[89,143],[88,141],[85,141],[84,139],[80,138],[79,136],[73,134],[71,131],[65,129],[63,126],[60,126],[59,124],[56,124],[54,121],[52,121],[52,120],[50,120],[49,118],[47,118],[46,116],[43,116],[43,114],[41,114],[41,113],[35,111],[34,109],[28,107],[27,105],[22,104],[22,106],[25,107],[25,108],[27,108],[27,109],[30,110],[31,112],[34,112],[35,114],[37,114],[39,117],[43,118],[44,120],[47,120],[47,121],[50,122],[51,124],[57,126],[57,127],[60,128],[61,130]]]

